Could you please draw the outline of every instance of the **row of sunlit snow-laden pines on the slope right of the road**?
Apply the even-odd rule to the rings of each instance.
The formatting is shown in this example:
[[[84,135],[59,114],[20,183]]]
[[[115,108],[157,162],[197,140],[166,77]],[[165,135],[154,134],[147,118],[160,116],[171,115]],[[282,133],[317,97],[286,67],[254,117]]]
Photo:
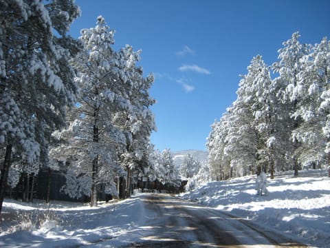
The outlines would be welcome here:
[[[329,165],[330,43],[299,39],[292,34],[271,66],[255,56],[241,76],[236,100],[208,136],[213,180]]]

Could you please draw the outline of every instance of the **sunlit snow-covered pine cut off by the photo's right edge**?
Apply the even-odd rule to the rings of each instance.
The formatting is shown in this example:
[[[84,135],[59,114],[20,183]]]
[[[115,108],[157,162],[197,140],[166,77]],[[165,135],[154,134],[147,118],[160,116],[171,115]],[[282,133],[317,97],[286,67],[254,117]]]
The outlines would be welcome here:
[[[329,164],[329,54],[330,43],[324,38],[303,56],[304,70],[298,74],[299,104],[294,114],[303,123],[294,138],[302,143],[300,163],[314,168]]]

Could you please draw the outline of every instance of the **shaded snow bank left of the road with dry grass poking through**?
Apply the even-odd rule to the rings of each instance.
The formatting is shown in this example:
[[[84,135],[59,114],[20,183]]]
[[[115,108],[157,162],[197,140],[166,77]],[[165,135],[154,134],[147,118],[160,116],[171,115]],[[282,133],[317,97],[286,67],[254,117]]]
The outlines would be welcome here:
[[[0,247],[110,247],[128,245],[144,225],[145,210],[140,198],[120,203],[88,204],[56,202],[33,205],[6,199],[1,213]],[[117,237],[120,237],[117,239]]]

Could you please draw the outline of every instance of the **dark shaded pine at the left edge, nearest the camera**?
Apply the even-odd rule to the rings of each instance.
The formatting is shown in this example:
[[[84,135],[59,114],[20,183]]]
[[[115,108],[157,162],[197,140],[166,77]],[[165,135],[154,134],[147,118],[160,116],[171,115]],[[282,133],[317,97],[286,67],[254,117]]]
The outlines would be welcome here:
[[[22,165],[47,161],[50,134],[64,124],[65,106],[74,101],[68,59],[78,45],[65,33],[79,14],[74,0],[1,1],[0,145],[6,152],[0,211],[12,150]]]

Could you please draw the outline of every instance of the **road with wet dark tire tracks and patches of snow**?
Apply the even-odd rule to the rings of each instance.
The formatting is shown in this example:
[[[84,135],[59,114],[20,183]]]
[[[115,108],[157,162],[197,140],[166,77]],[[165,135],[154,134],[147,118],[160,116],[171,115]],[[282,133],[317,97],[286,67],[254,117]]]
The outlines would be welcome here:
[[[144,242],[129,247],[303,247],[248,220],[201,207],[167,194],[142,194]]]

